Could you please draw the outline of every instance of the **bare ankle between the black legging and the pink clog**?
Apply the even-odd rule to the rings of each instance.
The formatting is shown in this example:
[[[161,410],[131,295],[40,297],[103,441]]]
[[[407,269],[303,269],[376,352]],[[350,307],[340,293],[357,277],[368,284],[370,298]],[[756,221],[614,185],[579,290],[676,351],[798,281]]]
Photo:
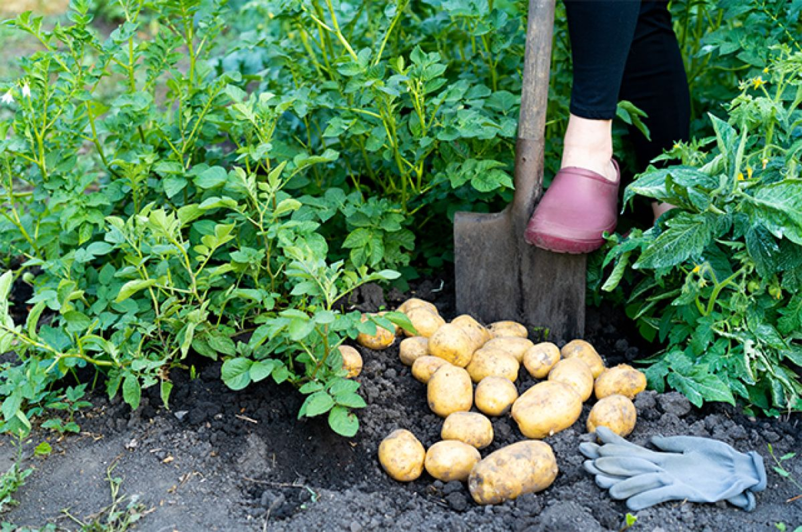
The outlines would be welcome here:
[[[618,179],[613,157],[613,121],[570,115],[565,131],[561,167],[580,167]]]

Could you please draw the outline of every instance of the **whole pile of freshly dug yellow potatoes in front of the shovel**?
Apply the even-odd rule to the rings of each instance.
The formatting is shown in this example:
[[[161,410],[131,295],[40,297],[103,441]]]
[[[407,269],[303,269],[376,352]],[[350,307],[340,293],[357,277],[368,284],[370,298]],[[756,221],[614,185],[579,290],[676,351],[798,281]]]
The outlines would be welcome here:
[[[574,340],[562,349],[550,342],[534,344],[521,324],[500,321],[484,327],[468,315],[447,323],[433,304],[415,298],[398,310],[418,333],[404,331],[399,357],[427,385],[429,408],[444,417],[444,424],[442,440],[429,449],[405,429],[382,441],[379,461],[395,480],[415,480],[425,469],[444,482],[467,481],[477,503],[504,502],[552,484],[557,460],[550,445],[539,440],[573,425],[592,395],[597,402],[588,417],[589,432],[606,426],[626,436],[634,429],[632,399],[646,388],[646,377],[629,365],[606,368],[588,342]],[[360,343],[371,347],[377,342],[364,338]],[[520,365],[541,381],[519,396]],[[471,412],[474,406],[478,413]],[[480,449],[493,439],[487,416],[508,413],[530,439],[482,458]]]

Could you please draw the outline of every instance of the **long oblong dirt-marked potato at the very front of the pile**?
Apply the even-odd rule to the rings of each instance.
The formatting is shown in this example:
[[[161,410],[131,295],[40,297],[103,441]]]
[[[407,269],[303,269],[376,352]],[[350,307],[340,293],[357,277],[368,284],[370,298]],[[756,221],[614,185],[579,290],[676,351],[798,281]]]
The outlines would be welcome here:
[[[557,459],[544,441],[518,441],[488,454],[468,476],[479,504],[497,504],[542,491],[557,478]]]

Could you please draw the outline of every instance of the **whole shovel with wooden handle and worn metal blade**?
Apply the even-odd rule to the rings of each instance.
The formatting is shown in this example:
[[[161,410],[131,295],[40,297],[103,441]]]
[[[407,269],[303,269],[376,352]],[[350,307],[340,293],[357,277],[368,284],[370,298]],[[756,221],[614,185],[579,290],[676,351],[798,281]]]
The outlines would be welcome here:
[[[515,320],[549,341],[585,332],[585,256],[547,252],[524,232],[543,190],[554,0],[529,0],[515,147],[515,195],[502,212],[454,217],[456,308],[490,323]]]

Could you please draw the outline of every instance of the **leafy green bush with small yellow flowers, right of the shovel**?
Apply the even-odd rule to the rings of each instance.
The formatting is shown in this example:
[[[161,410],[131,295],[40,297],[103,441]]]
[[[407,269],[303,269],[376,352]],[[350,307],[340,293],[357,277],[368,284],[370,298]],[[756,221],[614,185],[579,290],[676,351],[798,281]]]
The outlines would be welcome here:
[[[802,51],[741,84],[712,139],[679,145],[626,189],[677,208],[654,228],[614,236],[615,288],[641,275],[630,308],[666,342],[646,369],[695,405],[739,401],[766,413],[802,409]]]

